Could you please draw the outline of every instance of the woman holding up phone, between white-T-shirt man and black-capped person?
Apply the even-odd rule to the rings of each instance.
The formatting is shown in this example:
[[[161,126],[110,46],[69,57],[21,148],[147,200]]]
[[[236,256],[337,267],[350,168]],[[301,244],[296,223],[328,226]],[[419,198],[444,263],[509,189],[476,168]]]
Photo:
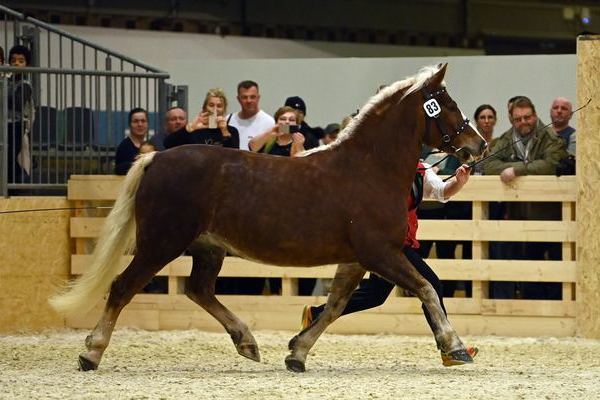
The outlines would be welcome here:
[[[297,110],[288,106],[280,107],[275,113],[275,125],[252,138],[250,150],[286,157],[304,151],[304,136],[299,132],[298,118]]]

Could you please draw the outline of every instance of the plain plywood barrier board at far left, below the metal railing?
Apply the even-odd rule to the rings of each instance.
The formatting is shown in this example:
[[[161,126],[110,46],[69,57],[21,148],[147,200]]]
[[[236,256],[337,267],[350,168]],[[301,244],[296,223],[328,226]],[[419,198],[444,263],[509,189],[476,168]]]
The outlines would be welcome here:
[[[0,199],[6,212],[65,207],[64,197]],[[66,210],[0,216],[0,332],[64,326],[47,299],[69,277],[69,217]]]

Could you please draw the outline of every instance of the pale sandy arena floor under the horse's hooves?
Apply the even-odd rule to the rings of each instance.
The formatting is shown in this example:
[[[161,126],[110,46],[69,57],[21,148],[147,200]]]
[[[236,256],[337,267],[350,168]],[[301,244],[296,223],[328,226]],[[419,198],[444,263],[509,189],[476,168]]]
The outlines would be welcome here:
[[[0,336],[1,399],[598,399],[600,341],[465,337],[473,365],[444,368],[431,337],[325,334],[307,372],[283,363],[292,332],[257,331],[262,361],[224,333],[116,330],[79,372],[88,331]]]

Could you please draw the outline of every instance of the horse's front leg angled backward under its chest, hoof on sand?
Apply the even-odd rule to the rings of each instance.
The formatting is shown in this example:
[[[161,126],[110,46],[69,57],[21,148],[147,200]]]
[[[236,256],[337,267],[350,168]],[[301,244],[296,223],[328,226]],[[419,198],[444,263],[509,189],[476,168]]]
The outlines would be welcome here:
[[[291,354],[285,358],[288,370],[304,372],[306,356],[325,329],[344,311],[353,290],[365,275],[359,264],[340,264],[335,272],[327,305],[312,325],[294,336],[288,345]]]

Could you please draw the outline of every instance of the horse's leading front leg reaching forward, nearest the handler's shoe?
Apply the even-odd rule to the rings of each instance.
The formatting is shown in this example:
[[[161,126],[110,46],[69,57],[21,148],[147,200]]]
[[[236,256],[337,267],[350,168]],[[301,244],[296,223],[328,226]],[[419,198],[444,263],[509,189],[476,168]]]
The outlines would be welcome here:
[[[419,297],[431,317],[433,334],[440,350],[458,362],[473,362],[450,325],[435,289],[400,249],[378,252],[376,259],[371,259],[368,265],[371,271]]]

